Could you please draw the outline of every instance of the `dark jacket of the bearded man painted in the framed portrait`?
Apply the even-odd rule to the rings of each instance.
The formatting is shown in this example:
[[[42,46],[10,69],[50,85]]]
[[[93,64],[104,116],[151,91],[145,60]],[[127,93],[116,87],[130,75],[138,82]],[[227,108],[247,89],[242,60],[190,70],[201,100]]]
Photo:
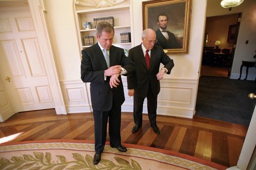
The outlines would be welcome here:
[[[182,47],[180,47],[180,45],[179,45],[176,37],[174,36],[174,34],[171,33],[170,31],[167,31],[167,33],[168,33],[168,36],[169,36],[169,40],[167,40],[165,38],[165,36],[160,31],[160,29],[158,29],[156,31],[157,40],[158,40],[156,45],[161,46],[163,49],[180,49],[180,48],[182,48]]]

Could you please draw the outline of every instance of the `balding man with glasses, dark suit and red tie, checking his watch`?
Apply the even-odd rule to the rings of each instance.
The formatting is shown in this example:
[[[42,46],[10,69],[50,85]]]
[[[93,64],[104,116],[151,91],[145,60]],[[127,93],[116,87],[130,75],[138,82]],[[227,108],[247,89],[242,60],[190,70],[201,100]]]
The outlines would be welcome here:
[[[155,133],[159,134],[157,126],[157,97],[160,92],[160,80],[164,74],[170,74],[174,66],[173,60],[168,57],[160,46],[155,46],[156,33],[153,29],[142,32],[142,44],[129,50],[129,58],[136,65],[134,73],[127,76],[128,95],[134,96],[132,133],[142,126],[143,102],[147,97],[148,116]],[[160,64],[164,67],[160,69]]]

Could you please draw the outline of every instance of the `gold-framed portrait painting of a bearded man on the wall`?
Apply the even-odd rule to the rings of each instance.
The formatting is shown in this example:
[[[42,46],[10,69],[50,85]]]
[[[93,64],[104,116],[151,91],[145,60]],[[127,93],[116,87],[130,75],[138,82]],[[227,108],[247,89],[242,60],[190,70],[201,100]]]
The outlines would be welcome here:
[[[143,30],[152,28],[157,34],[157,44],[169,55],[188,54],[190,33],[191,0],[150,0],[142,2]],[[159,27],[159,15],[168,17],[167,31],[171,38],[163,37]],[[175,36],[175,38],[173,38]],[[175,40],[176,39],[176,40]],[[174,45],[175,42],[176,45]]]

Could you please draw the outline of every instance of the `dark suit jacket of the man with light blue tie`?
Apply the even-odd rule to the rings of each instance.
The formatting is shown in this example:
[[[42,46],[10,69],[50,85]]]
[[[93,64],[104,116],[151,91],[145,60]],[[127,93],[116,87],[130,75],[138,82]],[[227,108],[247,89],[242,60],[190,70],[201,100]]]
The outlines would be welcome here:
[[[109,60],[110,66],[121,65],[128,73],[135,69],[134,63],[124,55],[124,50],[121,48],[111,46]],[[98,43],[82,50],[81,79],[83,82],[90,82],[93,111],[110,111],[112,102],[121,106],[125,100],[121,76],[119,76],[119,85],[111,89],[110,77],[104,81],[105,69],[107,69],[107,64]]]

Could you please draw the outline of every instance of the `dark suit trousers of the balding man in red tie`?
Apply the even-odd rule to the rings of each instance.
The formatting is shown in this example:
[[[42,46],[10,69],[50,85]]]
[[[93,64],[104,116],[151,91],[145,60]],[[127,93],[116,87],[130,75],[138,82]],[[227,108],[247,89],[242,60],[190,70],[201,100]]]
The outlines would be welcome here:
[[[152,93],[151,85],[149,85],[149,90],[147,94],[147,107],[148,107],[148,116],[151,126],[157,125],[157,96],[154,96]],[[139,97],[134,94],[133,100],[133,118],[134,123],[141,126],[142,125],[142,112],[143,112],[143,103],[145,98]]]

